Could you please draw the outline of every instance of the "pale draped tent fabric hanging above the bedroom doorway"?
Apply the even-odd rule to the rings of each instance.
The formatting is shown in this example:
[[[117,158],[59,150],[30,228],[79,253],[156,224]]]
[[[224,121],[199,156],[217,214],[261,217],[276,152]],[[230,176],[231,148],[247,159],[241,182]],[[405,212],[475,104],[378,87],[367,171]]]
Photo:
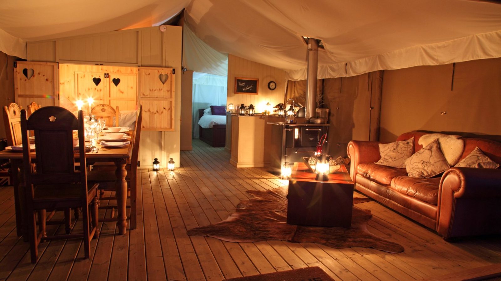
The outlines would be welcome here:
[[[228,74],[228,55],[220,53],[200,40],[183,25],[183,66],[196,72],[226,76]]]

